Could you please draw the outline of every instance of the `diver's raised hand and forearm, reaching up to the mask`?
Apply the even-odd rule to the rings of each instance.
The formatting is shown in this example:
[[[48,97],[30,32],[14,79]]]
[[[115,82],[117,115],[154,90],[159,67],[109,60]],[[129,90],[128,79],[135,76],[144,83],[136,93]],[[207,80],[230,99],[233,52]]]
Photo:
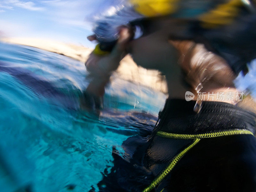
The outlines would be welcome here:
[[[90,72],[92,81],[81,98],[81,108],[99,114],[99,108],[104,95],[105,86],[109,81],[111,72],[119,66],[120,60],[126,55],[126,46],[132,37],[131,30],[127,27],[119,29],[119,39],[112,52],[98,55],[92,52],[85,62],[86,69]],[[95,36],[88,36],[88,40],[96,40]]]

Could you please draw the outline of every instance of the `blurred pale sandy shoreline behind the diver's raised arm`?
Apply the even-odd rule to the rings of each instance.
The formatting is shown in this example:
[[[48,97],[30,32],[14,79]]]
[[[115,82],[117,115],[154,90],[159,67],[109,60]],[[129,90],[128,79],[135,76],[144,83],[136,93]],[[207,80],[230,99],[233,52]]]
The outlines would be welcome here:
[[[84,63],[87,60],[89,54],[92,52],[92,49],[86,48],[84,46],[66,44],[45,39],[13,37],[2,38],[1,41],[5,43],[36,47],[45,51],[54,52],[73,58],[75,60],[79,60],[81,63]],[[133,62],[130,55],[124,57],[120,66],[116,70],[116,73],[119,77],[125,80],[167,93],[166,81],[160,72],[157,70],[148,70],[137,66],[136,63]]]

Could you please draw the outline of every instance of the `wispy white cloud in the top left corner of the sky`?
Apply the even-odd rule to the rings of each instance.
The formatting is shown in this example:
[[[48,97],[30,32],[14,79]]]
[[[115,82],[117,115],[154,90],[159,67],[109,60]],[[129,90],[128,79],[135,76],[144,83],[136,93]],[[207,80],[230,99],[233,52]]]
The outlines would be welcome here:
[[[38,7],[38,6],[36,6],[35,3],[31,2],[31,1],[6,0],[0,6],[3,6],[2,8],[5,8],[5,9],[12,9],[13,7],[19,7],[19,8],[27,9],[30,11],[43,11],[44,10],[43,7]]]

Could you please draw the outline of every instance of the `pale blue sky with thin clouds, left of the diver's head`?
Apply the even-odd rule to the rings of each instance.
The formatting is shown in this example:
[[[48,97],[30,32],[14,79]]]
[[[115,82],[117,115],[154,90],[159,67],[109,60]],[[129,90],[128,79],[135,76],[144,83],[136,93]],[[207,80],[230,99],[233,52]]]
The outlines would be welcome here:
[[[37,37],[93,47],[90,16],[113,0],[1,0],[0,35]]]

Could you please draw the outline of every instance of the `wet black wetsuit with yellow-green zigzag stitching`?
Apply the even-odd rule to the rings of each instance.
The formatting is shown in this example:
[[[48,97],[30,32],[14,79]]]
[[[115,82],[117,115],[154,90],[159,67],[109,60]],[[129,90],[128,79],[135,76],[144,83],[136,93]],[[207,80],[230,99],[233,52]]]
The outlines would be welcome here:
[[[125,158],[113,153],[100,191],[256,191],[256,115],[223,102],[203,102],[195,113],[194,105],[167,100],[153,133],[124,141]]]

